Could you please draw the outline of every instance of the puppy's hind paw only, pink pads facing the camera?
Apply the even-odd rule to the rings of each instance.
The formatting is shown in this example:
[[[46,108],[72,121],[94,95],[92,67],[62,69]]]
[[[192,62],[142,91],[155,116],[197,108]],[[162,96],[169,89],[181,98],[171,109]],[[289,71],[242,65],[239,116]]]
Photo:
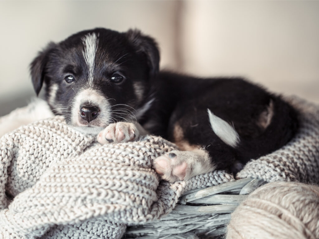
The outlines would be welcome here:
[[[161,175],[162,179],[170,183],[189,179],[191,171],[188,162],[189,158],[184,152],[173,150],[159,156],[154,160],[153,168]]]

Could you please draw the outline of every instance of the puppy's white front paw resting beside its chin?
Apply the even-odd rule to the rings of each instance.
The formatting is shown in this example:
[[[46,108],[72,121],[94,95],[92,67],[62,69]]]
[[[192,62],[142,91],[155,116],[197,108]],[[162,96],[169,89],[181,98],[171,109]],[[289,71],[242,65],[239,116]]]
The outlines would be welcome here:
[[[100,144],[128,142],[139,136],[137,127],[133,123],[117,122],[108,125],[98,134]]]

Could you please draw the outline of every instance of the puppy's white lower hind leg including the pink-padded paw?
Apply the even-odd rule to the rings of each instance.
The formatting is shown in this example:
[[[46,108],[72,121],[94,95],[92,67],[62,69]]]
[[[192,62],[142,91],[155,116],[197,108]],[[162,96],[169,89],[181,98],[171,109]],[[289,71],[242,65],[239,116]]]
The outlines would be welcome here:
[[[153,167],[164,180],[171,183],[177,180],[187,180],[216,168],[211,162],[209,153],[204,149],[170,151],[156,158],[153,162]]]

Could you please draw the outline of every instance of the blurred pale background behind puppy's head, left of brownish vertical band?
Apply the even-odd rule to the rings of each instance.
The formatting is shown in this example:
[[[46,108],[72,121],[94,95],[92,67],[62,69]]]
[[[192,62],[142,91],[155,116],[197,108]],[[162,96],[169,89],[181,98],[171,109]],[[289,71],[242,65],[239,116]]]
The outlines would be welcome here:
[[[0,110],[33,93],[29,64],[46,44],[94,27],[139,28],[160,45],[161,66],[176,66],[172,1],[0,1]],[[1,112],[0,112],[1,114]]]

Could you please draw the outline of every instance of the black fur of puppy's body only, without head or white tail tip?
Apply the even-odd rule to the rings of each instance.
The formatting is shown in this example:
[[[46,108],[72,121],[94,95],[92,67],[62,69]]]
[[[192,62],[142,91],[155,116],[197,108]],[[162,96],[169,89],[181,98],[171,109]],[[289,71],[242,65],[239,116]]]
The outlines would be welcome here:
[[[156,83],[156,103],[147,114],[147,120],[156,125],[149,130],[174,141],[178,122],[185,139],[203,146],[218,168],[235,160],[247,163],[282,147],[298,127],[297,113],[290,105],[242,78],[200,79],[162,72]],[[258,117],[271,100],[274,115],[263,129],[257,125]],[[207,108],[234,125],[241,140],[237,147],[227,145],[211,130]]]

